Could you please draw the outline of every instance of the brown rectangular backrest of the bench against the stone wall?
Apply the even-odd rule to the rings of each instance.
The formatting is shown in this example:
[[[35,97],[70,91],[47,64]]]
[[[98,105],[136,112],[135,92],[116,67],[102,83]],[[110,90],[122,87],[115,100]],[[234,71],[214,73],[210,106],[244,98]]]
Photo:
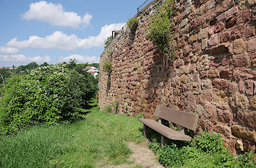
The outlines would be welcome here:
[[[171,121],[192,131],[197,129],[198,115],[192,112],[184,112],[174,110],[168,107],[157,106],[155,108],[155,116]]]

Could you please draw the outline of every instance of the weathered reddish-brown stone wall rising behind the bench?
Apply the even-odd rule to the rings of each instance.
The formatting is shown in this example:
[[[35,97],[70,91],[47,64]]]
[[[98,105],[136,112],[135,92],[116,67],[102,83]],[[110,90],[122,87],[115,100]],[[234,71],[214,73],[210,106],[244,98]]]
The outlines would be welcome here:
[[[125,29],[101,55],[99,105],[153,118],[156,105],[196,111],[200,128],[222,133],[234,151],[256,142],[256,1],[176,1],[176,58],[167,71],[146,35],[155,4],[138,14],[134,40]],[[113,50],[111,55],[108,50]],[[110,56],[111,55],[111,56]]]

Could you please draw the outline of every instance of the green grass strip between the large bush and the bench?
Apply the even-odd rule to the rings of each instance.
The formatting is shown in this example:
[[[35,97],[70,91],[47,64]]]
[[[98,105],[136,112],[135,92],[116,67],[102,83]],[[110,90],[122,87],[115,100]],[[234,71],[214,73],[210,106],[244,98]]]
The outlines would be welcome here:
[[[84,120],[35,126],[0,138],[0,167],[102,167],[130,163],[126,142],[143,141],[142,123],[100,112],[97,103],[81,110]]]

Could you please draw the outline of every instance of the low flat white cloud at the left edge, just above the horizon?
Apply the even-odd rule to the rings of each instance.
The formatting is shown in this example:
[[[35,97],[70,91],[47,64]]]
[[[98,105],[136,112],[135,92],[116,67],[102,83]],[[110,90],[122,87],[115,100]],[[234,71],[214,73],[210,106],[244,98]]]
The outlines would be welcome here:
[[[35,56],[35,57],[26,57],[22,54],[13,54],[13,55],[0,55],[0,60],[3,63],[43,63],[43,62],[51,62],[51,58],[49,56]]]

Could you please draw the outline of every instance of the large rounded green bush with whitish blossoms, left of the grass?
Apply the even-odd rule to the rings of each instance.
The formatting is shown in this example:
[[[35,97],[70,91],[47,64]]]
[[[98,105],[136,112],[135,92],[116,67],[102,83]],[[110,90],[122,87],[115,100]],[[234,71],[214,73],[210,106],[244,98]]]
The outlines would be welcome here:
[[[0,133],[14,133],[38,123],[72,120],[97,89],[90,74],[79,74],[64,63],[14,76],[1,88]]]

